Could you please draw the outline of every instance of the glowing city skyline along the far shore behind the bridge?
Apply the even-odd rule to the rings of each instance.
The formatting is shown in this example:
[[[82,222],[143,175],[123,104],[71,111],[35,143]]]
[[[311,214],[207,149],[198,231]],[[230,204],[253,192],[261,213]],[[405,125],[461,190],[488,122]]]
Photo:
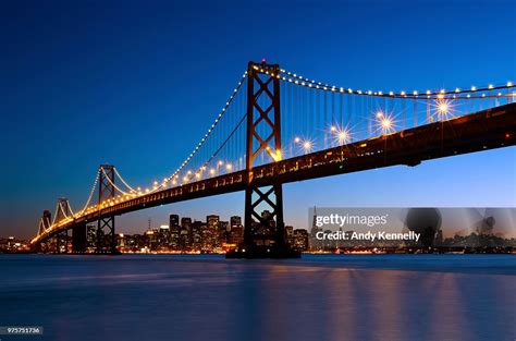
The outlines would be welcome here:
[[[324,210],[324,209],[323,209]],[[372,209],[373,210],[373,209]],[[388,209],[383,212],[389,216],[397,216],[396,210],[400,209]],[[415,209],[417,211],[418,209]],[[328,209],[325,209],[328,212]],[[366,216],[356,216],[366,214],[366,211],[371,212],[371,208],[366,210],[353,210],[355,217],[369,217],[374,218],[379,216],[366,215]],[[400,211],[403,212],[404,210]],[[351,226],[341,228],[321,228],[316,224],[316,217],[325,217],[325,214],[311,212],[311,226],[309,229],[299,229],[293,226],[290,226],[287,222],[285,224],[285,234],[288,245],[300,252],[308,253],[413,253],[417,252],[429,252],[430,253],[442,253],[442,252],[474,252],[474,253],[507,253],[514,247],[516,243],[516,238],[507,233],[501,233],[500,229],[496,228],[496,224],[502,221],[502,224],[505,224],[505,228],[509,228],[507,223],[511,224],[511,221],[514,220],[514,209],[502,209],[490,211],[489,209],[486,212],[478,211],[477,209],[428,209],[423,208],[419,210],[419,214],[416,215],[428,215],[428,212],[435,211],[437,215],[441,218],[444,218],[444,222],[449,221],[450,218],[455,220],[459,224],[463,223],[464,215],[472,215],[474,220],[481,218],[481,221],[476,221],[474,228],[460,229],[451,231],[446,228],[446,224],[442,226],[441,222],[434,227],[432,231],[421,231],[419,228],[414,224],[420,223],[417,220],[413,222],[405,221],[400,226],[400,218],[394,219],[394,223],[398,224],[397,229],[392,229],[383,226],[382,229],[378,230],[374,228],[369,228],[367,226],[361,226],[361,223],[355,222]],[[404,215],[406,211],[404,212]],[[432,215],[432,214],[431,214]],[[453,219],[452,216],[456,216]],[[262,217],[268,217],[268,221],[271,223],[270,229],[275,228],[274,220],[268,210],[261,212]],[[352,214],[352,216],[354,216]],[[458,220],[456,218],[463,216]],[[511,216],[513,216],[511,218]],[[417,216],[413,216],[417,217]],[[483,218],[482,218],[483,217]],[[391,220],[392,217],[389,219]],[[432,220],[427,216],[427,219]],[[507,220],[508,219],[508,220]],[[310,220],[310,219],[308,219]],[[467,219],[466,219],[467,220]],[[425,223],[431,223],[430,221],[425,221]],[[450,223],[450,221],[447,222]],[[310,223],[309,223],[310,224]],[[512,224],[511,224],[512,226]],[[460,226],[463,227],[463,226]],[[460,228],[459,227],[459,228]],[[257,231],[260,228],[259,223],[255,223],[253,229]],[[149,218],[148,224],[142,227],[140,231],[137,233],[126,233],[123,231],[123,227],[119,227],[116,233],[116,249],[120,253],[173,253],[173,254],[225,254],[228,251],[234,247],[241,247],[244,242],[244,226],[241,216],[232,216],[228,220],[221,219],[217,214],[210,214],[205,217],[205,219],[199,217],[186,217],[180,216],[174,212],[169,215],[168,223],[152,223]],[[372,230],[372,232],[371,232]],[[444,230],[447,233],[443,233]],[[398,239],[384,239],[388,231],[395,232],[402,235],[406,235],[407,240]],[[411,232],[410,232],[411,231]],[[379,233],[381,232],[381,233]],[[410,239],[413,234],[418,235],[417,240]],[[453,232],[453,233],[451,233]],[[97,230],[96,223],[90,223],[86,226],[86,244],[88,245],[84,253],[98,253],[97,249],[97,239],[99,231]],[[100,231],[100,239],[106,240],[106,243],[109,243],[110,236],[103,234]],[[263,230],[261,231],[263,233]],[[270,232],[267,232],[270,233]],[[337,239],[328,240],[323,234],[336,234]],[[378,235],[377,239],[370,239],[370,234]],[[393,234],[393,235],[394,235]],[[321,239],[322,236],[322,239]],[[421,238],[421,239],[420,239]],[[61,235],[60,238],[50,241],[47,243],[46,253],[67,253],[72,249],[73,246],[73,235],[66,234]],[[414,248],[416,247],[416,248]],[[423,248],[418,248],[423,247]],[[426,247],[426,248],[425,248]],[[428,248],[430,247],[430,248]],[[30,251],[29,241],[19,239],[15,236],[3,236],[0,235],[0,253],[27,253]]]

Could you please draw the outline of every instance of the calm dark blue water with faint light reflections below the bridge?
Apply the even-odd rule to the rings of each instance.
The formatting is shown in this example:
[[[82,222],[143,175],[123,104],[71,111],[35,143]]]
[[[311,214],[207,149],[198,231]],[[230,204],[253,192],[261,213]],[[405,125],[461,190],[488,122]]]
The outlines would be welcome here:
[[[0,255],[7,340],[516,340],[516,256]]]

